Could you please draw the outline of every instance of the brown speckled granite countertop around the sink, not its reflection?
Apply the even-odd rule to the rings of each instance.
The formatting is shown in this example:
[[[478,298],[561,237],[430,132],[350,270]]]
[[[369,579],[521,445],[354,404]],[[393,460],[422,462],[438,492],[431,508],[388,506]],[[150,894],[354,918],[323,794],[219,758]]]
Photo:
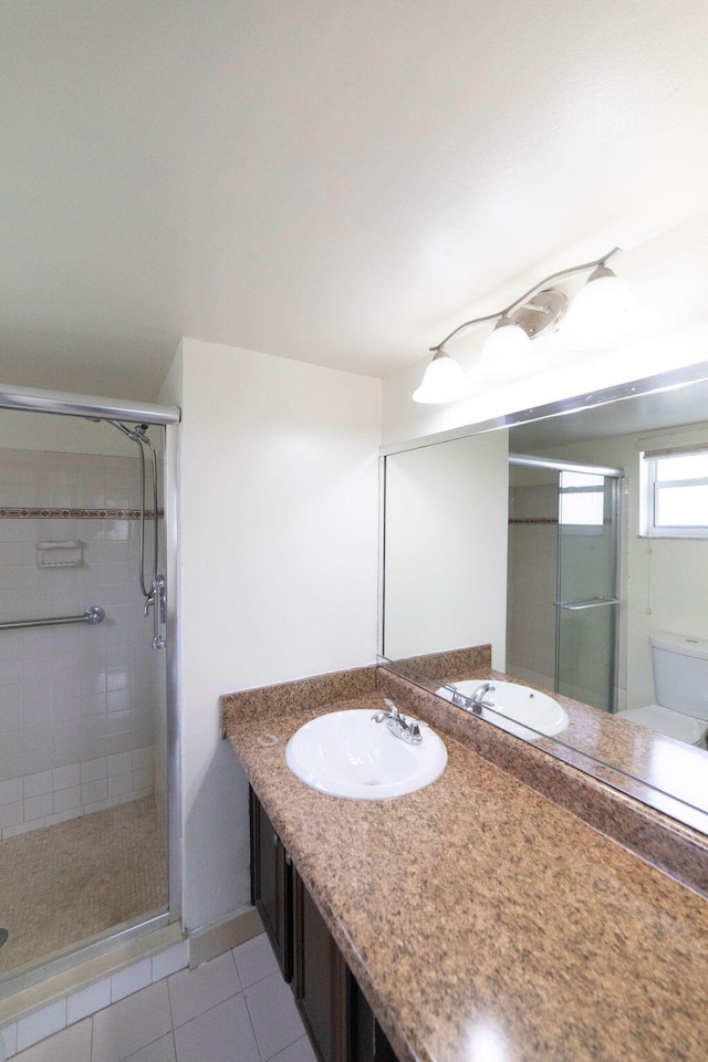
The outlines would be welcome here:
[[[428,698],[448,766],[417,793],[339,800],[289,771],[313,715],[382,706],[364,670],[329,700],[225,697],[222,720],[399,1059],[705,1062],[706,899],[475,752],[458,709]]]

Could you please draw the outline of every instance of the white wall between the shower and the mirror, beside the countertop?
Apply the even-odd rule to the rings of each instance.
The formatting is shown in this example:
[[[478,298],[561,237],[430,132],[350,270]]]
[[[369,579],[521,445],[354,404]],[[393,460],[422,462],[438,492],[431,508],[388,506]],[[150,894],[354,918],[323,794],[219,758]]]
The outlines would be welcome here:
[[[376,655],[381,382],[184,340],[160,400],[183,410],[184,919],[249,902],[244,778],[221,694]]]

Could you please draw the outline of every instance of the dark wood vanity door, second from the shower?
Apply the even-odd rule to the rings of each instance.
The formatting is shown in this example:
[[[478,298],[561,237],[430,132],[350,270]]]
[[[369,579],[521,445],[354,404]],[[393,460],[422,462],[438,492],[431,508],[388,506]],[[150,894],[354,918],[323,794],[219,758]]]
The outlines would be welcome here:
[[[347,978],[351,978],[351,974],[298,874],[294,876],[293,891],[295,1001],[322,1062],[348,1062],[346,1004]]]

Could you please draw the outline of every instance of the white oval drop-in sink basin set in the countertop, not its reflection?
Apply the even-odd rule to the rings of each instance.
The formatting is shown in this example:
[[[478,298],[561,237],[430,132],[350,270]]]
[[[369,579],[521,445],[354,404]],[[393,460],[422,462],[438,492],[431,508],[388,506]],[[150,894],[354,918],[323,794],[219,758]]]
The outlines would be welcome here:
[[[403,796],[440,777],[447,749],[437,733],[425,727],[420,745],[406,745],[373,715],[351,708],[305,722],[288,742],[288,767],[312,789],[350,800]]]

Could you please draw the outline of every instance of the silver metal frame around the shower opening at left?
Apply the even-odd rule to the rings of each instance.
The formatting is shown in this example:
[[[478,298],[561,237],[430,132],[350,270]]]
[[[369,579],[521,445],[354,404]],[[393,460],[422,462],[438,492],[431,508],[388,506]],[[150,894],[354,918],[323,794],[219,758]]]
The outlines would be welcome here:
[[[181,919],[181,769],[180,769],[180,693],[179,693],[179,652],[178,652],[178,462],[179,462],[179,420],[177,406],[153,405],[143,402],[127,402],[119,398],[105,398],[96,395],[80,395],[67,392],[42,391],[33,387],[0,386],[0,409],[24,410],[27,413],[51,413],[70,417],[93,419],[128,420],[165,428],[165,460],[163,470],[164,521],[165,521],[165,576],[167,582],[165,637],[165,691],[167,728],[167,846],[168,884],[167,910],[146,918],[127,929],[108,931],[101,940],[90,945],[79,945],[72,951],[38,966],[35,969],[17,977],[8,977],[3,988],[10,992],[34,985],[45,977],[71,969],[96,955],[122,944],[132,937],[143,936]]]

